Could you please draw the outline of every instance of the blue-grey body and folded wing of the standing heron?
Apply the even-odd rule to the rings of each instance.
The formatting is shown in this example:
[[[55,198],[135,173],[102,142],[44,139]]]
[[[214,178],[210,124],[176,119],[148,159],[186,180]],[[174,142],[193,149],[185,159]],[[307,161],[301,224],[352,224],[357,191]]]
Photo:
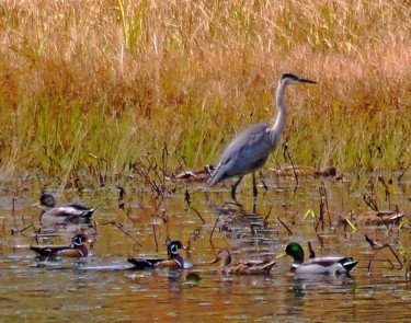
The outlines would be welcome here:
[[[274,148],[269,129],[265,124],[256,124],[237,136],[222,152],[214,176],[222,181],[262,166]]]

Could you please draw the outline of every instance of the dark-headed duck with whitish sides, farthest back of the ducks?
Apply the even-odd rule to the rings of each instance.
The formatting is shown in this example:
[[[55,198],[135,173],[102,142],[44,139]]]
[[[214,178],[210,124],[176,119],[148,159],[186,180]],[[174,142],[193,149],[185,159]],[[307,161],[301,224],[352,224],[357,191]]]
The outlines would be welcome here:
[[[90,224],[95,208],[87,208],[77,204],[56,207],[52,194],[43,194],[39,198],[43,209],[39,222],[43,227],[58,227],[66,224]]]

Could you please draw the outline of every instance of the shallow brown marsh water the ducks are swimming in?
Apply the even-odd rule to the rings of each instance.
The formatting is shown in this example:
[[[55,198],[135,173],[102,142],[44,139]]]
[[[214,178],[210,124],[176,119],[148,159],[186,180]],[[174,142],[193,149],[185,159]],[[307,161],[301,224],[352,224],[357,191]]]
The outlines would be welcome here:
[[[13,203],[13,194],[1,192],[0,321],[408,321],[411,285],[404,277],[406,263],[400,268],[388,249],[376,252],[365,240],[367,234],[389,243],[401,262],[411,251],[410,180],[403,177],[399,185],[396,175],[391,177],[389,200],[384,185],[374,181],[372,189],[366,175],[345,181],[305,177],[298,186],[292,178],[266,177],[269,191],[261,186],[255,204],[249,182],[241,185],[237,204],[228,186],[212,191],[203,184],[170,183],[175,193],[164,198],[126,187],[121,201],[116,188],[81,196],[70,192],[69,197],[56,197],[98,206],[96,232],[89,234],[92,256],[80,266],[64,259],[56,266],[32,267],[36,264],[28,250],[33,229],[15,234],[12,230],[31,221],[38,228],[38,210],[31,201],[14,196]],[[39,189],[26,186],[31,189],[25,195],[34,200]],[[326,194],[320,194],[321,187]],[[356,218],[370,210],[364,194],[374,196],[379,209],[398,205],[406,214],[401,229],[365,224]],[[324,196],[332,224],[326,214],[324,226],[320,223],[316,231]],[[344,218],[356,231],[350,224],[336,226]],[[184,245],[190,241],[190,251],[181,254],[193,268],[129,269],[128,256],[165,256],[167,237]],[[279,259],[270,276],[224,276],[218,265],[210,264],[219,247],[229,247],[237,261],[261,259],[275,257],[290,241],[306,251],[310,241],[318,256],[350,255],[359,263],[351,276],[301,278],[288,274],[290,258]],[[187,279],[190,273],[201,280]]]

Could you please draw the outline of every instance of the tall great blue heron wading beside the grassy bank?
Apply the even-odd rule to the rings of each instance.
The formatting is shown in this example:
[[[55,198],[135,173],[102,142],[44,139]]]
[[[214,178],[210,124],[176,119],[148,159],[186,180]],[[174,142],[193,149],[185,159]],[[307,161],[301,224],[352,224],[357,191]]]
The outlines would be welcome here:
[[[253,195],[258,195],[254,172],[264,165],[270,152],[279,143],[286,115],[284,91],[288,84],[296,83],[316,84],[313,81],[299,79],[294,74],[283,74],[278,81],[275,95],[278,113],[274,125],[270,127],[266,124],[255,124],[238,135],[222,152],[217,169],[208,181],[209,185],[232,176],[239,176],[231,186],[231,197],[236,198],[237,186],[246,174],[252,172]]]

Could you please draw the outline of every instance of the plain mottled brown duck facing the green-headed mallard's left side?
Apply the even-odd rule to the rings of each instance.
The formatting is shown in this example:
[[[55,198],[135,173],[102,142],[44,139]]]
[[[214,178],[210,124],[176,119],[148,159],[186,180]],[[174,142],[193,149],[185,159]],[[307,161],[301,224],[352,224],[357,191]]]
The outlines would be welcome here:
[[[212,264],[217,262],[221,264],[220,273],[227,275],[270,275],[276,264],[276,261],[231,264],[231,254],[227,249],[220,249]]]

